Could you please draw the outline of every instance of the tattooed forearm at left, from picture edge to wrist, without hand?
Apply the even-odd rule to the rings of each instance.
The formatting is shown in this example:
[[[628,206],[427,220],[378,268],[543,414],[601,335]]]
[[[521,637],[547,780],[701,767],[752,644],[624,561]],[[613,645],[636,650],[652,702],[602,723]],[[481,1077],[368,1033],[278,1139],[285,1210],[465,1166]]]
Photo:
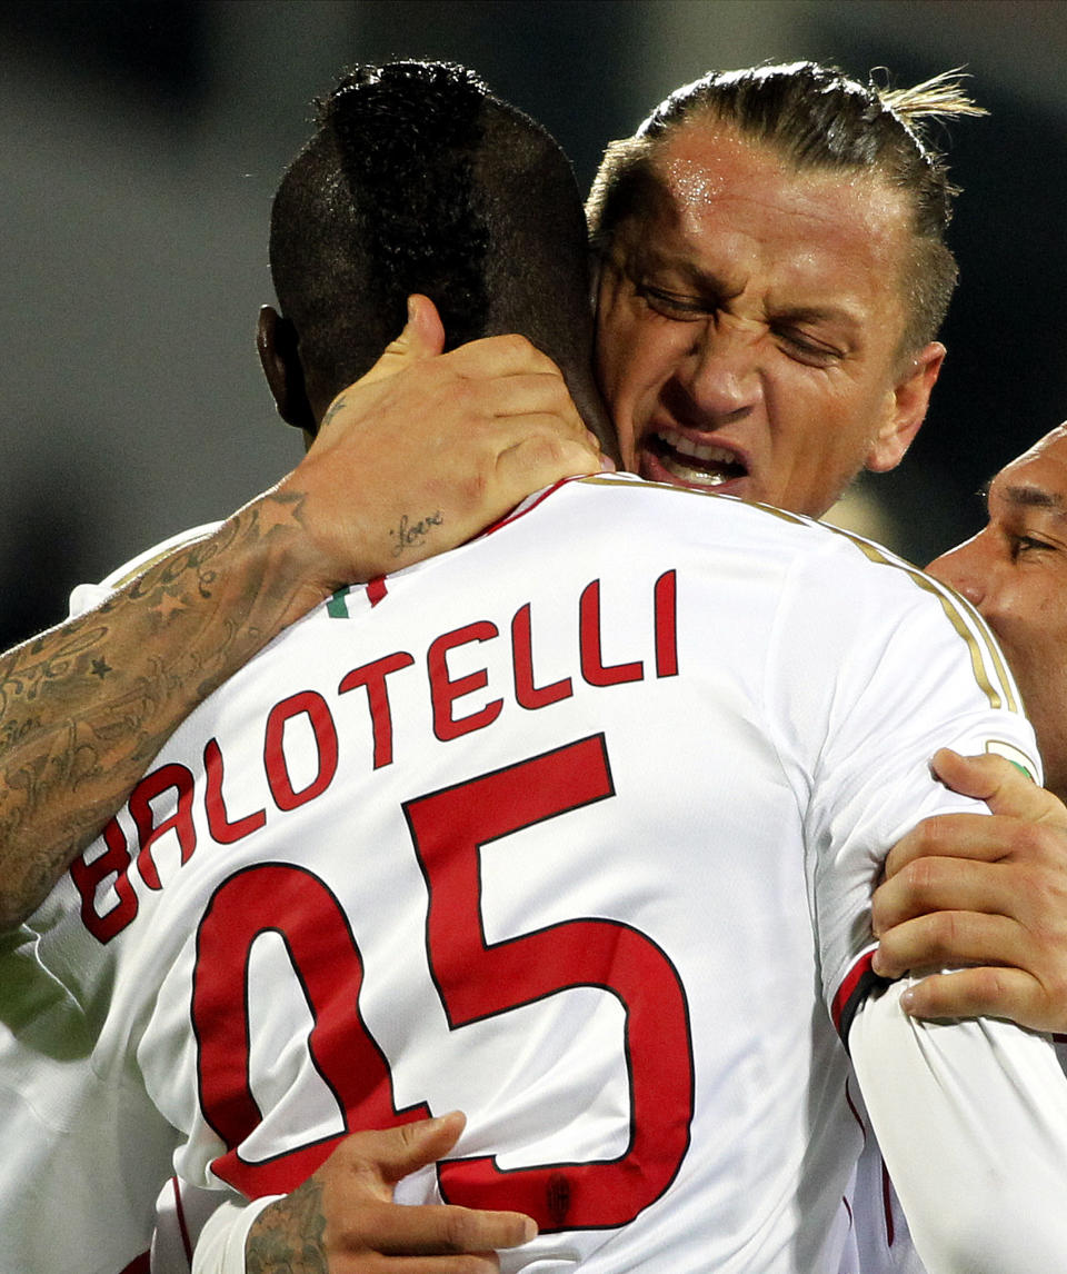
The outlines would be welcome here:
[[[0,927],[23,920],[183,717],[329,594],[267,494],[0,659]]]

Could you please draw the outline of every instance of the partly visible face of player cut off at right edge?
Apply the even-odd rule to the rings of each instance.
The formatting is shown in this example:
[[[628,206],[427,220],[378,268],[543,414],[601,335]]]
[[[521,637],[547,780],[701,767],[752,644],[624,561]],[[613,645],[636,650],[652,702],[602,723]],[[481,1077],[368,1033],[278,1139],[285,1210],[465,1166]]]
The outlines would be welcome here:
[[[1067,796],[1067,426],[989,484],[984,530],[927,568],[982,612],[1038,734],[1045,785]]]

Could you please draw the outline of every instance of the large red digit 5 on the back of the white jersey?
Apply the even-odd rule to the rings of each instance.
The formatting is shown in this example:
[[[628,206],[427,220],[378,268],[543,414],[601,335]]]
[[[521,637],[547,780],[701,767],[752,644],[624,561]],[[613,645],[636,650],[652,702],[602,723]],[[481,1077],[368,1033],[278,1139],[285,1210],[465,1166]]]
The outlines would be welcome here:
[[[626,1224],[663,1194],[689,1149],[689,1008],[666,953],[614,920],[485,938],[483,846],[612,795],[604,736],[595,735],[404,805],[430,892],[430,972],[452,1029],[578,986],[600,987],[625,1009],[630,1136],[623,1156],[526,1168],[481,1156],[438,1166],[446,1203],[525,1212],[542,1231]]]

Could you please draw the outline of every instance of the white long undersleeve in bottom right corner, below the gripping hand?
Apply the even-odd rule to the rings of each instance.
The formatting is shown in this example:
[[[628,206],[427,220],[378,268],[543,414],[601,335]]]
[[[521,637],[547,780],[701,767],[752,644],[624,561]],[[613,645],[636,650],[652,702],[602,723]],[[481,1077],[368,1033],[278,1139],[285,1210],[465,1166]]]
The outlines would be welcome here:
[[[1067,1259],[1067,1079],[1047,1037],[909,1018],[868,996],[848,1043],[929,1274],[1049,1274]]]

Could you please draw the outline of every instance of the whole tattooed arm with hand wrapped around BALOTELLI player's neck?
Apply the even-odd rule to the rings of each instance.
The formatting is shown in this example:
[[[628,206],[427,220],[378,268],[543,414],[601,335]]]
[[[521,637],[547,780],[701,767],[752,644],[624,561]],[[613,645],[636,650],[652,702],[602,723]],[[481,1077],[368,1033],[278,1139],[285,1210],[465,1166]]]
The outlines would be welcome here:
[[[598,468],[563,377],[527,341],[414,359],[395,341],[278,487],[0,656],[0,929],[29,915],[174,727],[283,627]]]

